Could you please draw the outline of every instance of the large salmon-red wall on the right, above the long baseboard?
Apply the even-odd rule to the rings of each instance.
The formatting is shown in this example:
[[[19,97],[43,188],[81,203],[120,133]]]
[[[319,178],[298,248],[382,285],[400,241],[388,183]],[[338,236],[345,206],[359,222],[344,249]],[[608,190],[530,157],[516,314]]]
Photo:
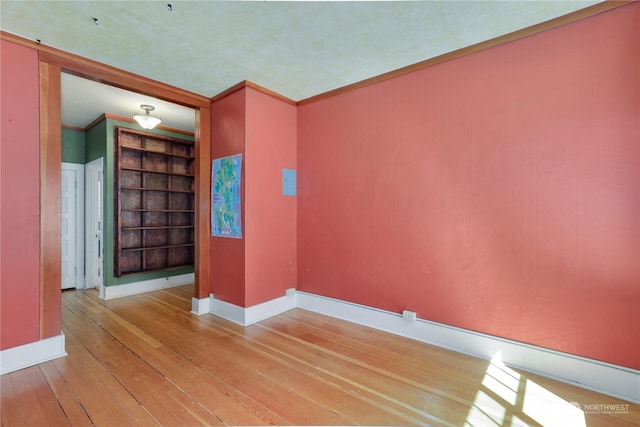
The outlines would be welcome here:
[[[640,3],[299,107],[298,289],[640,369]]]

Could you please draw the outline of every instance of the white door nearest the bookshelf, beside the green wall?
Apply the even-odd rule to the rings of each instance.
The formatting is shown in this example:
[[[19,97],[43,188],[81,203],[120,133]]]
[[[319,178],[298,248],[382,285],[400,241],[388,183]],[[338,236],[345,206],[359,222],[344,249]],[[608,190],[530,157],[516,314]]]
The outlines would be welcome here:
[[[103,221],[102,221],[102,158],[86,165],[86,213],[85,213],[85,265],[86,287],[101,290],[103,268]]]

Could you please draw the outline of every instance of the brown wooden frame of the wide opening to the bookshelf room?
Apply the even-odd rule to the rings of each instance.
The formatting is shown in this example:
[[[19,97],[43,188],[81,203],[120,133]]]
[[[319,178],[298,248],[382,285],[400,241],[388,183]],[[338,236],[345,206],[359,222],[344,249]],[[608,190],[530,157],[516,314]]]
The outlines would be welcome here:
[[[202,299],[210,289],[211,100],[59,49],[7,35],[38,51],[40,95],[40,338],[60,335],[60,183],[61,73],[153,96],[195,110],[195,292]],[[204,70],[203,70],[204,72]]]

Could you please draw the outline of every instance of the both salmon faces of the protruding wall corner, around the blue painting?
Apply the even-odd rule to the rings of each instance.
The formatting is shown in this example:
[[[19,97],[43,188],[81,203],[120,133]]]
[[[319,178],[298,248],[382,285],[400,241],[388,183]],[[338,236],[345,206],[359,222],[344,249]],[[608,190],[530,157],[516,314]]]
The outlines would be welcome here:
[[[295,288],[296,198],[282,195],[282,168],[296,167],[294,105],[252,88],[211,108],[213,159],[243,153],[243,238],[211,238],[211,289],[249,307]]]

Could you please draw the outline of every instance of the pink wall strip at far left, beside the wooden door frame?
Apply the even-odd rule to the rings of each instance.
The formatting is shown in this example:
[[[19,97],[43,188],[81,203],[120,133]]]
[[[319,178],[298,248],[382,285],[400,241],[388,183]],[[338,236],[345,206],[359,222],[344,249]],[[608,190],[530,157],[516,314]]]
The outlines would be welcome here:
[[[40,337],[38,52],[0,40],[0,349]]]

